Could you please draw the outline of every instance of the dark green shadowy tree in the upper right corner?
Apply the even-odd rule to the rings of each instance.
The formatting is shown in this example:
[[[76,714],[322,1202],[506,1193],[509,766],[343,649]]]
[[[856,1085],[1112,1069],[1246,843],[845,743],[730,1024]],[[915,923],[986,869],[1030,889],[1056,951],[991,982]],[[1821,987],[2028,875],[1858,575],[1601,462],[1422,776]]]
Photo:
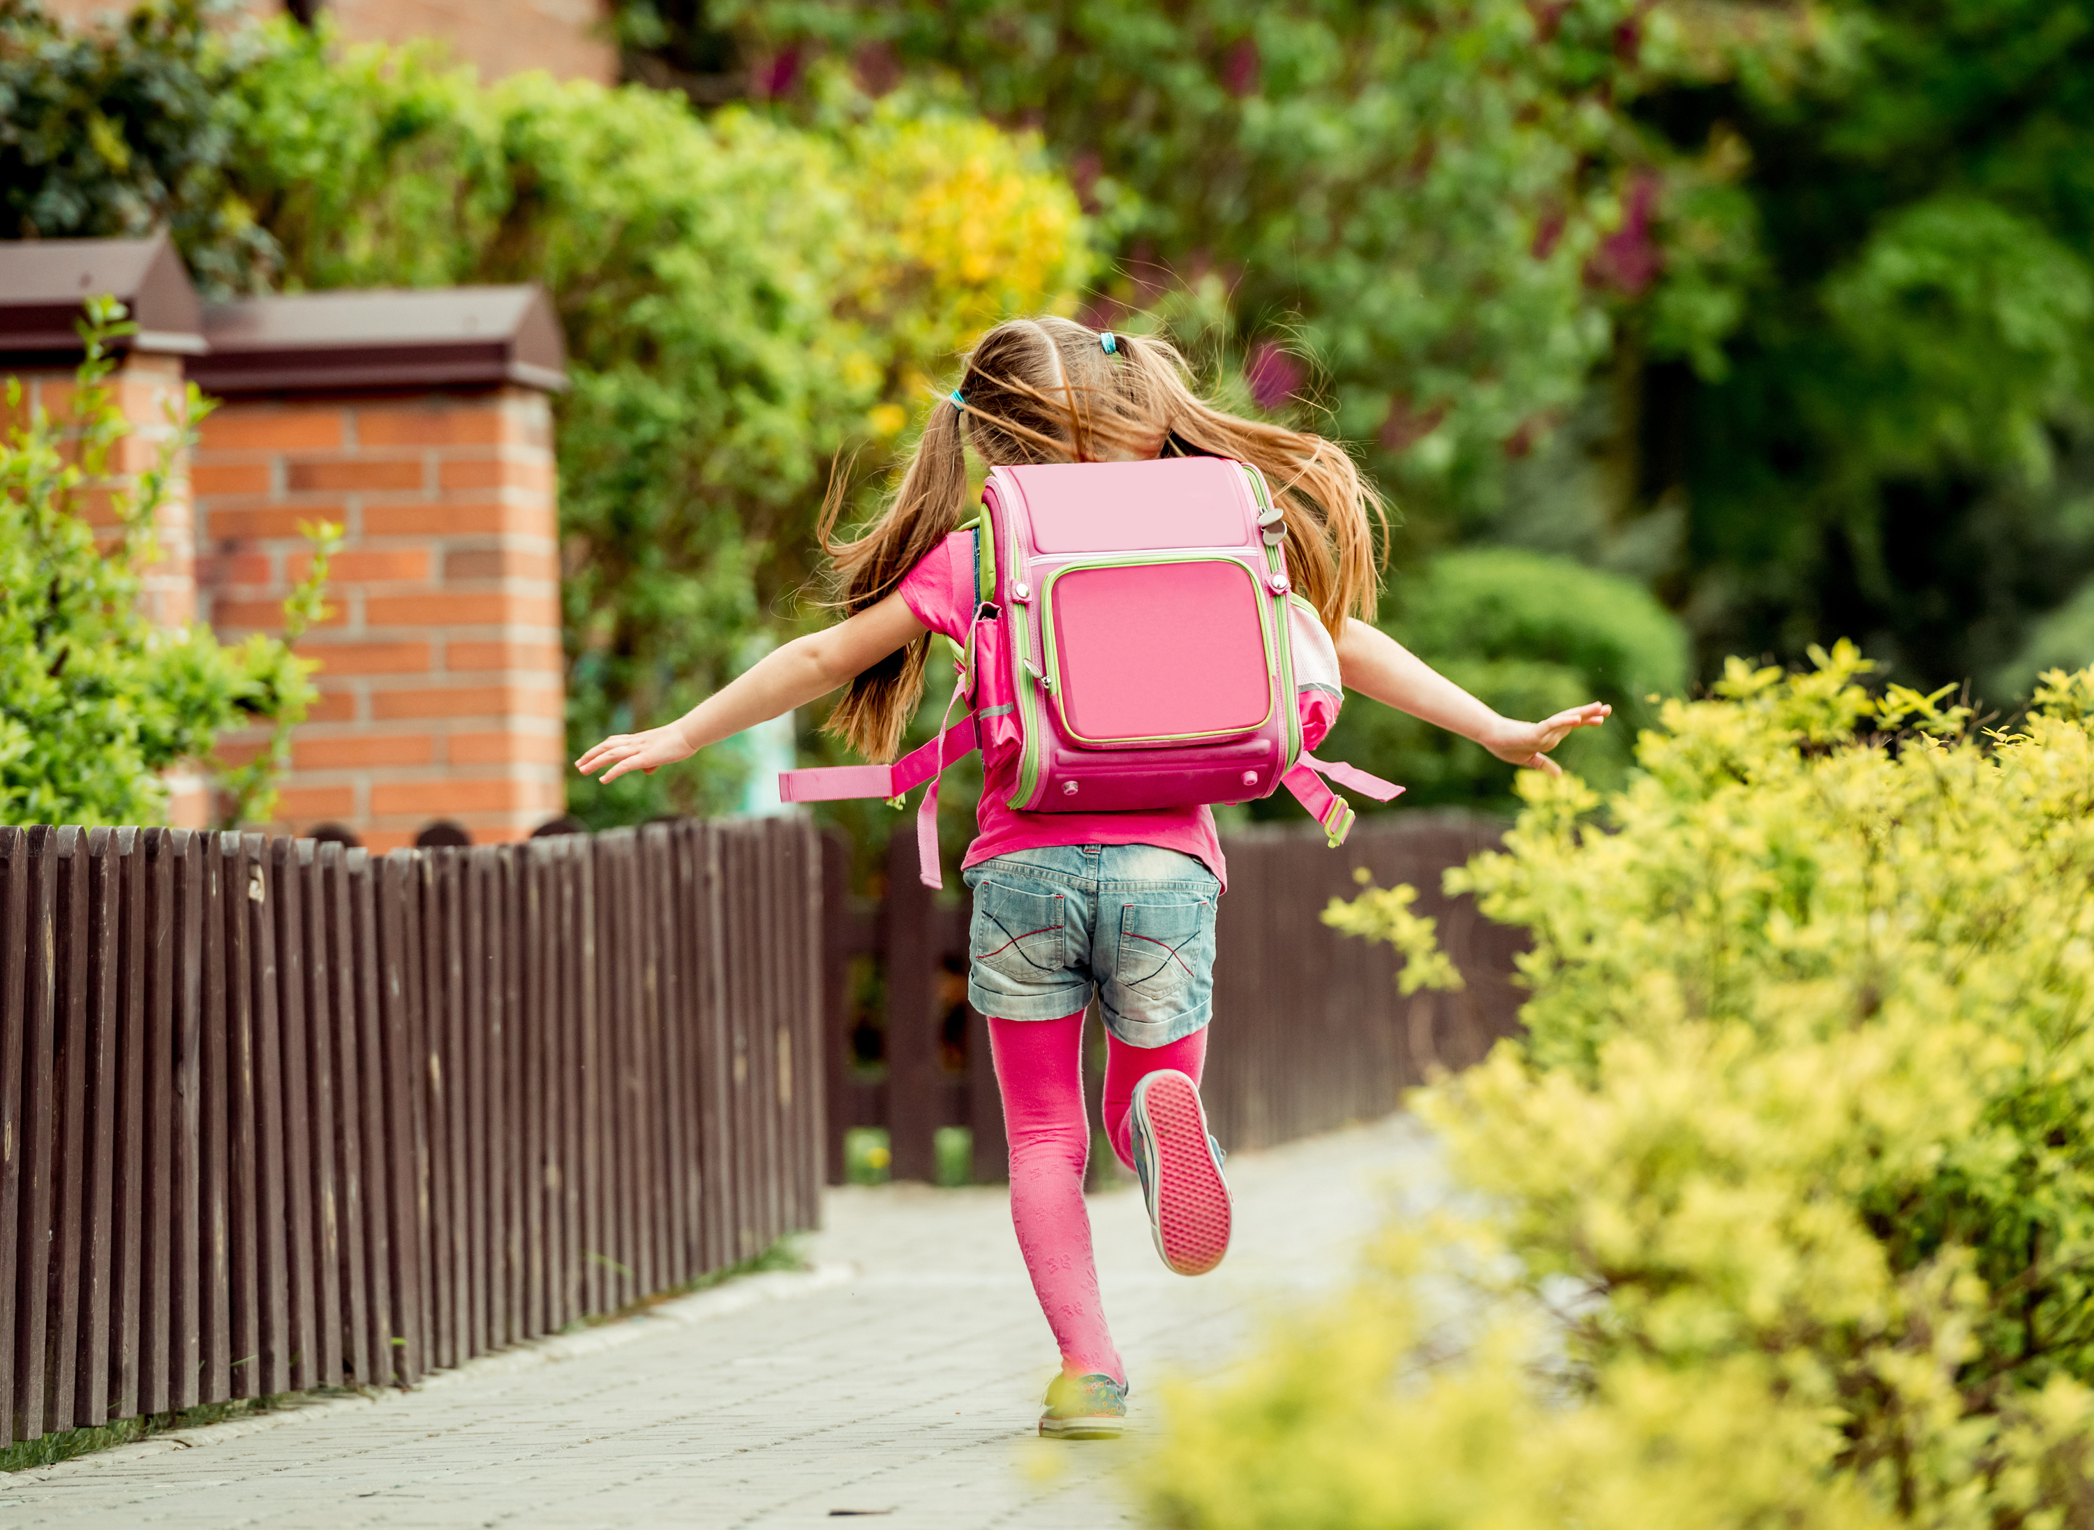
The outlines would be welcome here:
[[[1709,46],[1631,109],[1658,153],[1732,165],[1702,239],[1746,257],[1694,276],[1721,343],[1640,331],[1623,513],[1677,519],[1665,588],[1705,653],[1853,632],[2010,703],[2094,659],[2031,632],[2094,573],[2094,8],[1767,15],[1790,46]]]

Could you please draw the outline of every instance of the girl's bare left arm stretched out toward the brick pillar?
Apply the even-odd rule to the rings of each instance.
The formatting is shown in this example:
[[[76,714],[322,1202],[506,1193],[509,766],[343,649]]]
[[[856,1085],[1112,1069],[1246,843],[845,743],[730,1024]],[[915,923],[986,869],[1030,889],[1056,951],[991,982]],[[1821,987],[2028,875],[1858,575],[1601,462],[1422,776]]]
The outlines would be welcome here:
[[[926,630],[909,603],[890,594],[825,632],[808,632],[773,649],[674,722],[647,733],[614,733],[574,764],[584,777],[609,766],[603,770],[605,783],[618,781],[626,770],[653,774],[666,764],[689,760],[708,743],[733,739],[743,728],[829,695]]]

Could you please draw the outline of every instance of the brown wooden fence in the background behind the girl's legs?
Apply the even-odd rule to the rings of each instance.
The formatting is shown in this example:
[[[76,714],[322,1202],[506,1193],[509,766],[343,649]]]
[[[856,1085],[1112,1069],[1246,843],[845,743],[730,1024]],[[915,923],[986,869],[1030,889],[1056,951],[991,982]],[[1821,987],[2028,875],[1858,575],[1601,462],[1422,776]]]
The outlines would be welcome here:
[[[1466,1067],[1516,1030],[1518,931],[1439,890],[1447,867],[1489,850],[1499,835],[1501,825],[1487,818],[1416,812],[1365,818],[1340,850],[1330,850],[1319,829],[1292,825],[1223,839],[1229,892],[1217,929],[1202,1095],[1225,1147],[1267,1147],[1386,1116],[1432,1070]],[[1468,980],[1464,992],[1403,998],[1388,946],[1321,923],[1332,898],[1359,892],[1359,869],[1384,887],[1418,887],[1420,913],[1439,919],[1441,944]],[[892,1174],[913,1180],[932,1178],[940,1126],[972,1126],[974,1178],[1003,1178],[988,1028],[965,998],[965,887],[942,902],[926,890],[907,833],[894,835],[877,906],[848,896],[840,837],[825,841],[823,877],[829,1183],[844,1178],[844,1132],[852,1126],[888,1128]],[[884,1003],[869,1005],[869,992]],[[869,1009],[879,1011],[877,1032]],[[1095,1118],[1095,1072],[1089,1093]]]

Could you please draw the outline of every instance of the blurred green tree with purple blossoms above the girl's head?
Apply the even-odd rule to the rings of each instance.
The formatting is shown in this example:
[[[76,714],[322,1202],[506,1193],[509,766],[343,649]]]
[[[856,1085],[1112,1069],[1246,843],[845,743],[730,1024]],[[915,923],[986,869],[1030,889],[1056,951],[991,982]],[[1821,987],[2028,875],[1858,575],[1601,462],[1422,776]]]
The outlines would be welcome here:
[[[672,48],[691,10],[628,15]],[[1101,318],[1221,274],[1256,402],[1309,408],[1436,519],[1495,502],[1508,444],[1579,398],[1614,301],[1648,285],[1619,111],[1642,10],[758,0],[704,17],[773,61],[773,88],[781,59],[829,48],[1039,123],[1120,262]]]

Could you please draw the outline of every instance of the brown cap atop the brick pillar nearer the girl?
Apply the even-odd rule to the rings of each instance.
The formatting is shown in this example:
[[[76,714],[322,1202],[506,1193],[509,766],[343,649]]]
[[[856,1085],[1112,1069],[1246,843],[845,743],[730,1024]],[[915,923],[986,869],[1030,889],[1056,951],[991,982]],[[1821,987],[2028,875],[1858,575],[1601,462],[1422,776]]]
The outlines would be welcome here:
[[[521,383],[559,391],[567,350],[540,287],[438,287],[245,297],[203,306],[205,393]]]

